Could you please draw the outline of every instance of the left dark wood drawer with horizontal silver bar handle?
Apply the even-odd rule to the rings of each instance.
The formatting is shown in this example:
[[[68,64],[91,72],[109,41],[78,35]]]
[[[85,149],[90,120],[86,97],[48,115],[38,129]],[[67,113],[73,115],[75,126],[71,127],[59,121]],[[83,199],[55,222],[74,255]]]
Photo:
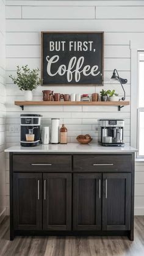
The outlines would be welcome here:
[[[14,172],[70,172],[68,155],[13,155]]]

